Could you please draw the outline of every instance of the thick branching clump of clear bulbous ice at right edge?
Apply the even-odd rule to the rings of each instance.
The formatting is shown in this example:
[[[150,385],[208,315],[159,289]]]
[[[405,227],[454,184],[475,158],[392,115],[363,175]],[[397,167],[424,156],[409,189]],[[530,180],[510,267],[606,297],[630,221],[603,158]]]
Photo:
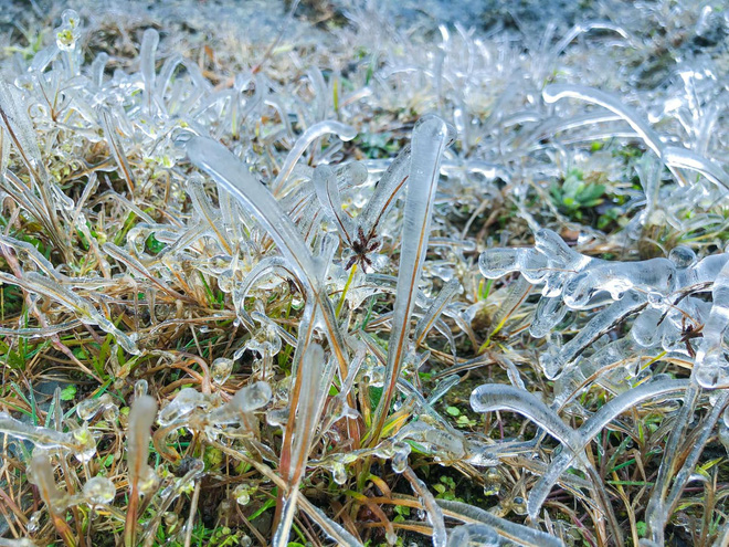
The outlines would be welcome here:
[[[695,317],[705,315],[706,307],[691,293],[714,284],[721,296],[721,284],[717,282],[722,278],[720,272],[728,259],[725,253],[697,260],[689,248],[678,245],[667,259],[606,261],[582,255],[551,230],[540,229],[535,234],[533,248],[485,251],[478,267],[488,278],[519,272],[529,283],[542,286],[542,297],[530,325],[535,337],[548,336],[570,312],[601,308],[567,344],[551,345],[541,353],[542,371],[553,379],[573,367],[600,337],[634,316],[631,334],[638,346],[662,344],[666,350],[687,351],[687,344],[690,347],[691,343],[685,341],[686,324],[698,328]],[[717,317],[722,317],[720,312]],[[706,339],[705,335],[701,343],[705,347]],[[689,350],[693,351],[694,348]],[[719,369],[714,366],[705,370],[707,379],[701,381],[716,385],[718,380],[708,377],[717,376]]]

